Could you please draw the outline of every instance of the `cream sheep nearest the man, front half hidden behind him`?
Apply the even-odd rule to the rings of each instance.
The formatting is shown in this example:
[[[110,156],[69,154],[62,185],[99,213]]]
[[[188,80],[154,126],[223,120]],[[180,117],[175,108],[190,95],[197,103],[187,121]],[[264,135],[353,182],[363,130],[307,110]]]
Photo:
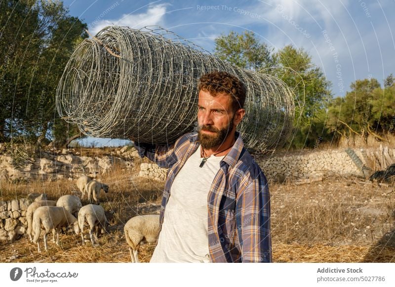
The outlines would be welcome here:
[[[138,215],[130,218],[123,227],[129,245],[132,262],[139,262],[138,249],[141,242],[157,242],[159,236],[159,215]],[[132,253],[133,250],[133,253]]]

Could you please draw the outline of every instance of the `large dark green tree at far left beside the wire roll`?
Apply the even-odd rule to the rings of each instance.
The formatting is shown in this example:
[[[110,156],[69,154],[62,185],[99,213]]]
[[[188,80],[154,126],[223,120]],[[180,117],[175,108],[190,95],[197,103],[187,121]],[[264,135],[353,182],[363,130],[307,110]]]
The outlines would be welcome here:
[[[56,87],[86,24],[61,1],[5,0],[0,10],[0,141],[40,143],[59,123]]]

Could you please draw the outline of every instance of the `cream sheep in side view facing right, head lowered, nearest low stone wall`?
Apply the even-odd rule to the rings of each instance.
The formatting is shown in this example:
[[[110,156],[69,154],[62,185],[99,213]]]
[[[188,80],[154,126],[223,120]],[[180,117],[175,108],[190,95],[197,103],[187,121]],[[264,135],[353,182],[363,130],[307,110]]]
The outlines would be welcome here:
[[[40,250],[39,237],[41,228],[44,229],[45,234],[43,237],[45,251],[47,247],[47,237],[51,229],[56,231],[56,245],[59,245],[59,232],[64,226],[73,225],[74,231],[79,235],[78,220],[71,213],[69,213],[64,207],[59,206],[41,206],[33,214],[33,230],[34,238],[33,242],[37,243],[37,247]],[[55,242],[54,240],[52,240]]]

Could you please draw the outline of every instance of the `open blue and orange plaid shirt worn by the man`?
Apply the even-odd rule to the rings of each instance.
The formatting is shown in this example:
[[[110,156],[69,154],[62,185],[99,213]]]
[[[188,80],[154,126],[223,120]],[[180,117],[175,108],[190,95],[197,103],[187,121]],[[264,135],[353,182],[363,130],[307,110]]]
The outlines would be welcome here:
[[[237,140],[220,162],[207,197],[208,244],[211,262],[271,262],[270,195],[267,179],[243,141]],[[159,223],[178,171],[197,150],[197,133],[180,137],[175,144],[135,143],[140,157],[169,168],[163,191]],[[198,176],[198,175],[197,175]]]

